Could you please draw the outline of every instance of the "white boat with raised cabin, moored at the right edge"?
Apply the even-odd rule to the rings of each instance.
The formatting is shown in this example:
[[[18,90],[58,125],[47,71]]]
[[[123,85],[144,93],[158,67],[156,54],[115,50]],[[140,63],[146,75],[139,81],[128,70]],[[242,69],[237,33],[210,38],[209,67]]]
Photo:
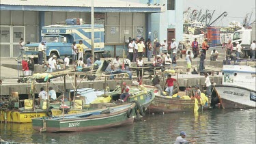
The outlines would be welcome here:
[[[223,108],[256,108],[255,77],[255,67],[224,65],[223,85],[215,85],[216,94]]]

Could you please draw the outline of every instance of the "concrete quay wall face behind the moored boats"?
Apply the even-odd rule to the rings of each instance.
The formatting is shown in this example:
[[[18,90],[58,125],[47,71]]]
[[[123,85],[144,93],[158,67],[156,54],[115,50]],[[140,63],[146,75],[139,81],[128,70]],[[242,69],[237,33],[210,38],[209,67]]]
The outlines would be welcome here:
[[[173,76],[173,78],[177,78]],[[221,84],[221,76],[210,76],[210,79],[214,81],[216,84]],[[162,81],[162,79],[161,79]],[[205,77],[199,75],[191,75],[182,77],[179,74],[179,85],[180,87],[185,87],[186,85],[204,85]],[[124,80],[128,85],[132,83],[132,81]],[[77,81],[77,84],[80,83],[80,80]],[[117,81],[106,81],[106,85],[110,87],[110,89],[115,89],[116,85],[121,84],[121,80]],[[145,85],[152,85],[152,82],[149,79],[143,80],[143,84]],[[94,88],[94,89],[103,89],[105,85],[104,80],[97,80],[97,81],[82,81],[78,88]],[[40,92],[40,87],[46,87],[46,83],[36,83],[35,84],[35,93]],[[54,81],[50,83],[48,87],[53,87],[56,92],[61,93],[64,90],[64,83],[62,81]],[[12,84],[3,84],[0,85],[0,96],[2,95],[10,95],[11,92],[18,92],[19,94],[28,94],[31,89],[31,84],[29,83],[12,83]],[[60,89],[60,90],[59,90]],[[73,89],[70,80],[67,78],[66,80],[66,89]]]

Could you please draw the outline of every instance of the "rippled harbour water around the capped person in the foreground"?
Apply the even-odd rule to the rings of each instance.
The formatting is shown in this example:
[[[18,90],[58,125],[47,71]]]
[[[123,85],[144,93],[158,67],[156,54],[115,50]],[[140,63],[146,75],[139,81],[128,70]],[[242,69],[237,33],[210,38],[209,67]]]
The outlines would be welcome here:
[[[147,115],[145,121],[93,132],[40,133],[31,124],[1,124],[5,141],[25,143],[174,143],[184,130],[197,143],[256,143],[256,109]]]

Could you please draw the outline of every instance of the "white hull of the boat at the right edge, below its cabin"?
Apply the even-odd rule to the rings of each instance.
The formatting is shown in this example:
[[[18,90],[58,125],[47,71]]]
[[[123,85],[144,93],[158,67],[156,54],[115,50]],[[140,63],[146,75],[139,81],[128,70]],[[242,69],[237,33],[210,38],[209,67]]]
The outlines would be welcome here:
[[[233,85],[216,85],[225,109],[251,109],[256,108],[256,91]]]

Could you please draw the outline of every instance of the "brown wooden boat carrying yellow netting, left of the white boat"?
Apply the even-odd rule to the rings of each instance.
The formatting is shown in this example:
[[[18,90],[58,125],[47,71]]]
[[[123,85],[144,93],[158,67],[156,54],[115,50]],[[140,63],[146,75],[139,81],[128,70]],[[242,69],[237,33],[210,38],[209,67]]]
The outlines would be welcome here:
[[[150,104],[147,111],[150,113],[175,113],[184,111],[194,111],[195,99],[190,99],[188,96],[184,96],[184,91],[176,93],[177,98],[171,98],[169,96],[160,96],[160,91],[154,86],[147,86],[148,89],[154,89],[154,95],[156,96],[153,102]],[[179,96],[180,95],[180,96]],[[201,93],[201,100],[198,106],[202,109],[207,109],[210,104],[210,98],[207,98],[204,93]]]

